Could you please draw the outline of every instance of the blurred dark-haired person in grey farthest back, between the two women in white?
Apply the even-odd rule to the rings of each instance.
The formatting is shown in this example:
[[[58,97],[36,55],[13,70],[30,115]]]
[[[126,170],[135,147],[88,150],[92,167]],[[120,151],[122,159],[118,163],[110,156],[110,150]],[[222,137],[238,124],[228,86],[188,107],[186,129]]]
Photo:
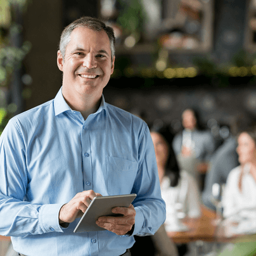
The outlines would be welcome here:
[[[182,112],[182,126],[184,129],[174,136],[172,147],[181,169],[187,170],[202,186],[200,173],[207,172],[216,141],[210,131],[202,129],[198,112],[192,108]]]

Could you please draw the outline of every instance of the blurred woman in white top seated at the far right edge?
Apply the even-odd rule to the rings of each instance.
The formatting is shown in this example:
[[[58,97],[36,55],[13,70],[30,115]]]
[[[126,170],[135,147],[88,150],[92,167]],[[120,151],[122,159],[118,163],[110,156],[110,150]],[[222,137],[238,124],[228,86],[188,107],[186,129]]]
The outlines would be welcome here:
[[[229,219],[256,218],[256,131],[238,136],[240,165],[229,173],[222,197],[223,215]]]

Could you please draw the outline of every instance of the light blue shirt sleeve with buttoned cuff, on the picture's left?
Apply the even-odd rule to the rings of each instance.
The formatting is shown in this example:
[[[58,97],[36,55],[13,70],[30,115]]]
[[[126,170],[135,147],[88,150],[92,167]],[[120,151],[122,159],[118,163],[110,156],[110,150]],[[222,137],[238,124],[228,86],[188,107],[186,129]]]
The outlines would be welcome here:
[[[22,132],[13,119],[0,137],[0,234],[24,236],[63,232],[58,212],[63,204],[39,205],[25,202],[29,177]]]

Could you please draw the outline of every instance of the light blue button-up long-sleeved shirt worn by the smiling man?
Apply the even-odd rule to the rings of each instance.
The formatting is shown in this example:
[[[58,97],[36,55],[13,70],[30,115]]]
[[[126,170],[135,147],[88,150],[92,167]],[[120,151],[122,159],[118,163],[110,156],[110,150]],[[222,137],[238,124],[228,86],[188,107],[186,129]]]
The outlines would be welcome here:
[[[165,203],[148,126],[105,103],[86,120],[61,89],[51,101],[12,118],[0,138],[0,234],[29,256],[121,255],[133,236],[74,233],[61,227],[61,206],[77,193],[136,193],[134,234],[154,234]]]

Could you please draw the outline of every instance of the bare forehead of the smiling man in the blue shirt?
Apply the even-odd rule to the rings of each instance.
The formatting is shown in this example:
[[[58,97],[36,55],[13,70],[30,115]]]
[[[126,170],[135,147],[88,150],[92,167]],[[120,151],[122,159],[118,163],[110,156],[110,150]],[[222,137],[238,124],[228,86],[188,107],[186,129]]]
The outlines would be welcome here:
[[[77,27],[70,34],[70,42],[67,48],[93,48],[110,51],[110,40],[105,30],[95,31],[87,27]]]

